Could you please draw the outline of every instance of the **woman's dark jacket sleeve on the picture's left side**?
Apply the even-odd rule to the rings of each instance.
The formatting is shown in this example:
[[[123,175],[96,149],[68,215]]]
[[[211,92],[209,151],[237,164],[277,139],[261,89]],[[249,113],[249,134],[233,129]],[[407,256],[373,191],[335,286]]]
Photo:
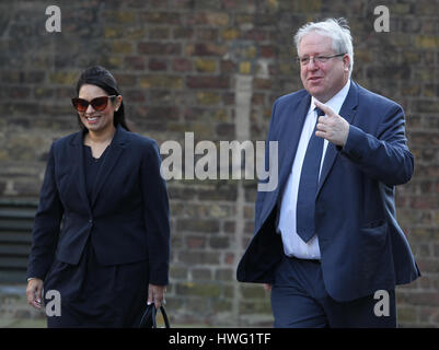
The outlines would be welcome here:
[[[35,214],[32,231],[32,247],[27,265],[27,278],[36,277],[45,279],[48,269],[55,258],[55,250],[60,231],[63,207],[59,199],[58,188],[55,182],[54,144],[39,192],[38,209]]]

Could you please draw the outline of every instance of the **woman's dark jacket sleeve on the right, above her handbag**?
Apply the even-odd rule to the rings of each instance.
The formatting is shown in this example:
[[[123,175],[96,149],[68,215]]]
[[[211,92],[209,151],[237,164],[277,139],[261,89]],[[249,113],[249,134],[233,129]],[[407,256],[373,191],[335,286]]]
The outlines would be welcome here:
[[[147,230],[151,284],[169,283],[170,210],[165,180],[160,175],[159,147],[148,143],[141,165],[143,217]]]

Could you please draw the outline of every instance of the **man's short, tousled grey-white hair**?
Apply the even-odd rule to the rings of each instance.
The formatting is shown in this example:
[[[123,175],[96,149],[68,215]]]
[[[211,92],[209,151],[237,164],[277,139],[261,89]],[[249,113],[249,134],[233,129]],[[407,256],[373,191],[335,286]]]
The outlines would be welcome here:
[[[333,49],[336,54],[348,54],[350,58],[349,78],[354,67],[354,46],[350,28],[347,21],[340,19],[327,19],[323,22],[309,22],[302,25],[294,35],[296,49],[299,54],[299,45],[304,36],[311,32],[328,36],[333,40]]]

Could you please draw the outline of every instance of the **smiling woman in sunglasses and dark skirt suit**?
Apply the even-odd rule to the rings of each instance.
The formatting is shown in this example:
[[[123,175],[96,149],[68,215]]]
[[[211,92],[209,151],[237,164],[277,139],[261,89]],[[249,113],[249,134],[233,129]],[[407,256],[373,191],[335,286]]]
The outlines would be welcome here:
[[[160,307],[169,282],[169,201],[159,148],[129,131],[106,69],[86,69],[77,93],[82,130],[50,148],[27,300],[39,308],[43,285],[45,293],[59,292],[61,315],[48,316],[48,327],[136,327],[147,302]]]

